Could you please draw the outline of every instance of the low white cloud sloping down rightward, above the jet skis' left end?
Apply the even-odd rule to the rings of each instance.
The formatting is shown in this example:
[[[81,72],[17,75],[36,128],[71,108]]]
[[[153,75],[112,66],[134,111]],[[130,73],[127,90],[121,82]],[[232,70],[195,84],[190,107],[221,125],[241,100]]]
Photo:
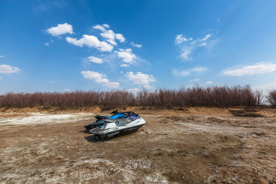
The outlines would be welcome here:
[[[119,82],[109,82],[104,74],[100,74],[98,72],[93,71],[82,71],[81,74],[85,79],[94,80],[98,84],[102,84],[103,86],[107,86],[108,88],[118,88]]]

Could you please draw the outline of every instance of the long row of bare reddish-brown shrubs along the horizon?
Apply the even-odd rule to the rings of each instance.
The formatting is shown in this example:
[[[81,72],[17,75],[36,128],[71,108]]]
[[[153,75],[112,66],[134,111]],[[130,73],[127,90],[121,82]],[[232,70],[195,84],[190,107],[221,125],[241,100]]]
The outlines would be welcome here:
[[[112,91],[73,91],[70,93],[6,93],[0,98],[0,107],[35,107],[45,108],[87,108],[100,106],[105,109],[144,106],[144,107],[234,107],[254,108],[261,105],[262,91],[245,86],[182,87],[179,89],[159,88],[155,91],[146,89],[136,94],[127,90]],[[276,105],[276,90],[266,96],[271,105]]]

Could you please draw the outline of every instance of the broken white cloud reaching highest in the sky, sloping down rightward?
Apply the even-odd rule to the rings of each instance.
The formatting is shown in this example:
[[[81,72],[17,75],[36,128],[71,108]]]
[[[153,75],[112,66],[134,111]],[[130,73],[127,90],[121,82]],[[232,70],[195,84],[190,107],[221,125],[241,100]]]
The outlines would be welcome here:
[[[98,29],[102,31],[100,35],[112,45],[117,45],[115,39],[119,40],[120,42],[124,42],[126,40],[122,34],[119,34],[119,33],[116,34],[112,30],[107,30],[106,28],[109,29],[110,26],[107,24],[103,24],[102,26],[100,25],[93,26],[93,29]]]

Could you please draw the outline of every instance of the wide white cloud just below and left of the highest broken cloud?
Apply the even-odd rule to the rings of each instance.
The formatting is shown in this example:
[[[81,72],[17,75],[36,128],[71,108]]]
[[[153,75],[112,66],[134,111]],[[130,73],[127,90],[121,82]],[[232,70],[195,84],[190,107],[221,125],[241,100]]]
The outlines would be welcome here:
[[[66,37],[66,41],[79,47],[83,47],[85,44],[90,48],[97,48],[99,51],[110,52],[113,49],[111,44],[108,44],[105,41],[100,41],[96,36],[93,35],[83,35],[79,40],[77,40],[77,38]]]

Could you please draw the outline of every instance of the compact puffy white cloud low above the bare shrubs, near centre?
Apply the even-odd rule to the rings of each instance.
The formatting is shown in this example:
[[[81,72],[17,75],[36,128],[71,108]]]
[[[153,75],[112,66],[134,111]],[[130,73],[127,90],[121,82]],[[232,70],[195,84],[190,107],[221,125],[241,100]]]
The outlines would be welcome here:
[[[155,78],[152,75],[143,74],[142,72],[137,72],[133,74],[133,72],[127,72],[125,75],[129,80],[133,81],[133,84],[148,84],[149,82],[154,82]]]

